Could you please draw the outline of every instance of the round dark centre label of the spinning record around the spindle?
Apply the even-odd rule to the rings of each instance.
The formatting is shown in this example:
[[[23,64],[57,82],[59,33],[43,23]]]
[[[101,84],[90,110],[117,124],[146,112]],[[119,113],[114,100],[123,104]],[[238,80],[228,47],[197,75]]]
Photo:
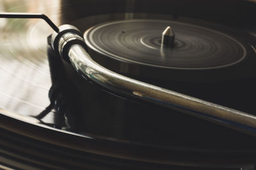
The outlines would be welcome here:
[[[162,32],[168,25],[175,32],[173,48],[161,46]],[[107,22],[84,36],[86,44],[102,55],[168,69],[220,68],[246,57],[244,45],[228,34],[170,20]]]

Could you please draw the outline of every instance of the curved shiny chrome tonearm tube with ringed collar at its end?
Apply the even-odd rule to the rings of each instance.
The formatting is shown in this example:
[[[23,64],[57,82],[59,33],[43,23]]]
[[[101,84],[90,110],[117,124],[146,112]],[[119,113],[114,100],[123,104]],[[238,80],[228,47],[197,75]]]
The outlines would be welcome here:
[[[86,52],[83,35],[72,25],[61,25],[60,32],[51,36],[51,46],[63,59],[70,61],[81,76],[89,78],[104,89],[119,92],[167,108],[184,111],[189,115],[228,126],[256,136],[256,116],[218,104],[186,96],[142,81],[114,73],[100,66]]]

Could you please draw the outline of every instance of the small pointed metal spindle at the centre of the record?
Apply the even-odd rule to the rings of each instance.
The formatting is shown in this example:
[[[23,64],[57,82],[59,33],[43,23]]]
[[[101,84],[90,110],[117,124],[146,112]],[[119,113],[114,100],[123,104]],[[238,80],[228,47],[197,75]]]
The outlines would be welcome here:
[[[175,34],[172,27],[168,26],[162,33],[162,46],[173,48],[175,40]]]

